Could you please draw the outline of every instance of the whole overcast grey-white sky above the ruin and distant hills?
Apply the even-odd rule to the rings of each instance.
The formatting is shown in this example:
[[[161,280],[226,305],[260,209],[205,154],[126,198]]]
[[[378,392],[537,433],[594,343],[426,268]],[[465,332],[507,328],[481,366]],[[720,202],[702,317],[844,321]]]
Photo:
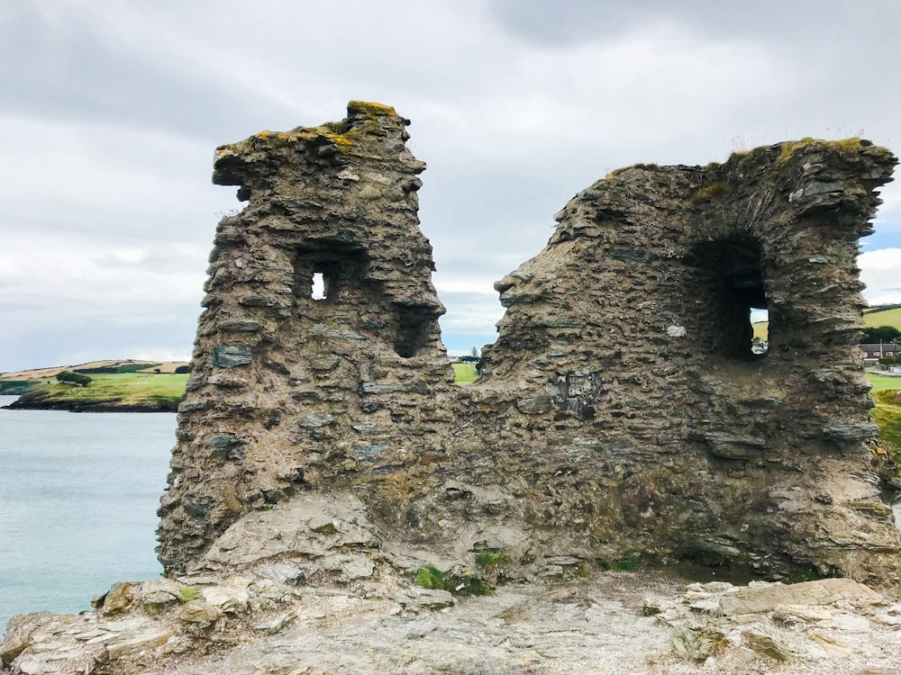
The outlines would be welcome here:
[[[0,4],[0,371],[187,359],[214,228],[214,148],[413,120],[452,353],[493,341],[491,284],[611,169],[779,140],[901,151],[901,2],[6,0]],[[860,257],[901,302],[901,181]]]

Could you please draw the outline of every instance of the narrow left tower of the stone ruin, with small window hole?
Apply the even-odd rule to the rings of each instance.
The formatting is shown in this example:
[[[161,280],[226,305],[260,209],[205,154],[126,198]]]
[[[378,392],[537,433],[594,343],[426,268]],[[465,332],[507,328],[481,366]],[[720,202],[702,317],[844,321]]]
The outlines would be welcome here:
[[[214,183],[249,203],[216,230],[160,507],[167,568],[250,510],[441,444],[453,374],[407,123],[350,103],[339,123],[218,148]]]

